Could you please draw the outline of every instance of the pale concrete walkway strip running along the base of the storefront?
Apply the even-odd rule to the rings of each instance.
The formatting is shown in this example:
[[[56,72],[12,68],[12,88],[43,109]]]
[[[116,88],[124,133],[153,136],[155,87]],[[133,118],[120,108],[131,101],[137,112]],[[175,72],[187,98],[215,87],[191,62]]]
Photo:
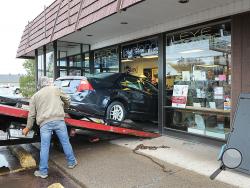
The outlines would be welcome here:
[[[169,146],[169,149],[140,150],[140,152],[204,175],[207,179],[220,165],[220,162],[217,161],[217,156],[220,151],[219,146],[192,142],[171,136],[161,136],[159,138],[145,140],[124,138],[113,140],[111,143],[130,149],[134,149],[139,144],[147,146]],[[250,176],[236,171],[223,171],[217,176],[216,180],[238,187],[250,187]]]

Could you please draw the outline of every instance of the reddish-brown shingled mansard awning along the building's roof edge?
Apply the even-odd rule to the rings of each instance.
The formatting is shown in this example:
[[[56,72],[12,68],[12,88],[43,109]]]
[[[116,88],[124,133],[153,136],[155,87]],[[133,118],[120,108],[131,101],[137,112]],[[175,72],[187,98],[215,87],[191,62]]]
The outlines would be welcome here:
[[[56,0],[26,25],[17,57],[113,15],[143,0]]]

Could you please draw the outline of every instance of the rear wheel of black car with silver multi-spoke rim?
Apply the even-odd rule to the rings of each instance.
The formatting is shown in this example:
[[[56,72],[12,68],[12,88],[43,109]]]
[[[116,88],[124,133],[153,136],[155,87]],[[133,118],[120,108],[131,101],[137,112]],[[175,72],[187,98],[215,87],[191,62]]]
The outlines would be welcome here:
[[[121,102],[112,102],[106,111],[106,118],[116,121],[123,121],[126,118],[127,111]],[[113,122],[114,124],[119,124],[118,122]]]

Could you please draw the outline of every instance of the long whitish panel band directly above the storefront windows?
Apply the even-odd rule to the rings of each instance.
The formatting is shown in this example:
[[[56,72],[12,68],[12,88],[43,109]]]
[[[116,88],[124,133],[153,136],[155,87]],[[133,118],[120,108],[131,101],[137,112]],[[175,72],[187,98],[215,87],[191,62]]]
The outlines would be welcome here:
[[[91,45],[91,49],[98,49],[105,46],[110,46],[137,38],[170,31],[173,29],[178,29],[193,24],[198,24],[218,18],[223,18],[226,16],[250,11],[250,0],[235,0],[233,3],[225,4],[223,6],[218,6],[215,8],[203,10],[200,12],[195,12],[193,14],[186,15],[185,17],[169,21],[164,24],[155,25],[150,28],[139,30],[137,32],[128,33],[123,36],[108,39]]]

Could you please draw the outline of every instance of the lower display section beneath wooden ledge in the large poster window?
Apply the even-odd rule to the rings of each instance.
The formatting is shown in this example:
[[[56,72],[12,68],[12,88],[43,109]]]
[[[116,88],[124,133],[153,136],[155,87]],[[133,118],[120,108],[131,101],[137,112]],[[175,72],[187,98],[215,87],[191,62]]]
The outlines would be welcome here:
[[[225,140],[227,134],[230,132],[230,110],[193,106],[186,106],[185,108],[164,106],[164,108],[167,112],[172,112],[173,114],[172,126],[186,126],[185,130],[189,133]],[[174,116],[180,114],[181,117],[178,117],[178,121],[175,121]],[[210,123],[208,126],[209,118],[215,119],[215,122]],[[187,120],[189,121],[187,122]],[[228,125],[226,126],[228,128],[225,125]]]

